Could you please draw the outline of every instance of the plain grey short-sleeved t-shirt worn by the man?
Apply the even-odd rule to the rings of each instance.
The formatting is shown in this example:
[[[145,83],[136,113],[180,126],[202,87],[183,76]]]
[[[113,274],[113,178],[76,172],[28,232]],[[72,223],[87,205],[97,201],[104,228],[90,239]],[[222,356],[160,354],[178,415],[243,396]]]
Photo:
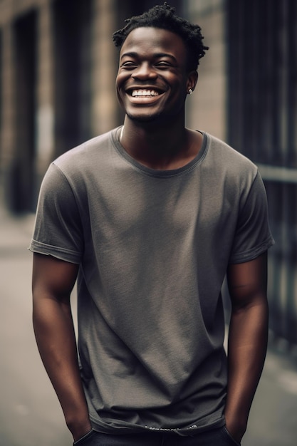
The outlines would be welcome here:
[[[49,167],[31,250],[80,264],[78,348],[95,430],[224,424],[221,288],[229,263],[273,244],[256,166],[204,134],[177,170],[152,170],[120,128]]]

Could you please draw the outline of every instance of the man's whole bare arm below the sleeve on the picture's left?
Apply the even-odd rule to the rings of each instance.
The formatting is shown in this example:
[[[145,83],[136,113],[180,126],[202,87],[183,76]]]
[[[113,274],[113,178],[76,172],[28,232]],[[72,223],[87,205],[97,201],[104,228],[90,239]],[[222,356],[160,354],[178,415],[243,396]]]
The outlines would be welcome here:
[[[53,388],[74,440],[91,429],[78,367],[70,295],[78,265],[43,254],[33,257],[33,326]]]

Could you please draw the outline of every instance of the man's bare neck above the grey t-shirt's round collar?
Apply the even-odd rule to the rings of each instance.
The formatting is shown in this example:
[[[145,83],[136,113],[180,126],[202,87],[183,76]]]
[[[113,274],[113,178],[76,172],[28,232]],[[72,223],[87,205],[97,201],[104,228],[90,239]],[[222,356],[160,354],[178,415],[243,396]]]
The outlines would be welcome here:
[[[125,119],[120,142],[140,164],[155,170],[172,170],[187,165],[199,152],[201,133],[184,125],[152,125]]]

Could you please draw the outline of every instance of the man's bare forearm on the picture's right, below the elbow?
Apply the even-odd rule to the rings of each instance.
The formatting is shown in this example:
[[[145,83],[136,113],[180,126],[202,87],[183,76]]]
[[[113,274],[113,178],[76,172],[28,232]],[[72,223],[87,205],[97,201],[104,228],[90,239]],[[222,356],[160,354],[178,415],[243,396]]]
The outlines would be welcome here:
[[[228,390],[226,426],[241,440],[249,410],[263,369],[268,336],[268,306],[265,299],[234,310],[228,343]]]

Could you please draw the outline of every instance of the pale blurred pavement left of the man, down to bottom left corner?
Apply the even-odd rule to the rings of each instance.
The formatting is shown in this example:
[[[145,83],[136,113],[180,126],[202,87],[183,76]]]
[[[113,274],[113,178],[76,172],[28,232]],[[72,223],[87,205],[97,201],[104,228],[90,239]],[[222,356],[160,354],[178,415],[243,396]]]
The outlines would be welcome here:
[[[0,446],[71,446],[33,334],[33,222],[0,208]]]

